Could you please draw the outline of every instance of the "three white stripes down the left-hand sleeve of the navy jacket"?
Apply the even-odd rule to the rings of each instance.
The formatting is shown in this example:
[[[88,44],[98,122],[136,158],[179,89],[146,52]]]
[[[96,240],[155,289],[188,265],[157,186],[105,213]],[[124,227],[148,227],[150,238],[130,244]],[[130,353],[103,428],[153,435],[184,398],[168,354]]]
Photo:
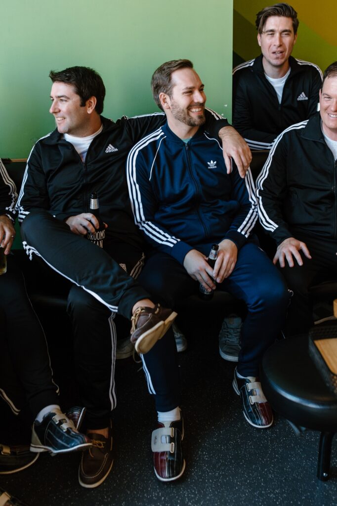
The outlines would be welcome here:
[[[163,135],[164,134],[161,131],[161,129],[158,129],[152,134],[144,137],[144,139],[142,139],[133,147],[133,149],[129,153],[127,160],[127,179],[131,199],[131,207],[134,213],[136,225],[141,230],[143,230],[144,233],[148,235],[152,240],[160,244],[173,247],[179,241],[179,239],[167,234],[166,232],[158,228],[156,225],[154,225],[152,222],[146,221],[143,212],[141,193],[139,190],[139,185],[137,183],[136,161],[139,151],[142,148],[146,147],[150,142],[157,141],[158,139],[160,139],[160,137],[162,137],[161,140],[163,140],[164,139]]]

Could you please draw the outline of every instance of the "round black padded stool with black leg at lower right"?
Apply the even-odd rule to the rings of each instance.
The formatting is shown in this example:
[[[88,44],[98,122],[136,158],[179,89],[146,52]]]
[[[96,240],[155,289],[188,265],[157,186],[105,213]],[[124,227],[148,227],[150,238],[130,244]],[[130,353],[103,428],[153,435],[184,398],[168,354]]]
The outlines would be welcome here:
[[[315,331],[319,331],[315,328]],[[330,327],[337,338],[337,325]],[[262,361],[261,383],[273,409],[292,424],[321,433],[317,477],[329,477],[331,443],[337,432],[337,396],[309,356],[308,335],[271,346]]]

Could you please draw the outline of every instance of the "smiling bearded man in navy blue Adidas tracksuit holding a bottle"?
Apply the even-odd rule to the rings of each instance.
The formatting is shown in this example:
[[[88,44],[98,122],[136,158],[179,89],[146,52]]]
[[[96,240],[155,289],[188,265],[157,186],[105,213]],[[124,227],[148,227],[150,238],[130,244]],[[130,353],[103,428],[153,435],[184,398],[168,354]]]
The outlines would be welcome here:
[[[205,129],[204,86],[189,60],[163,63],[151,85],[167,121],[136,144],[127,163],[135,222],[151,246],[140,282],[173,306],[198,283],[246,303],[233,387],[248,423],[270,427],[272,411],[257,376],[283,323],[288,295],[250,236],[257,219],[251,173],[241,179],[233,167],[227,174],[222,147]],[[219,254],[213,270],[206,259],[214,242]]]

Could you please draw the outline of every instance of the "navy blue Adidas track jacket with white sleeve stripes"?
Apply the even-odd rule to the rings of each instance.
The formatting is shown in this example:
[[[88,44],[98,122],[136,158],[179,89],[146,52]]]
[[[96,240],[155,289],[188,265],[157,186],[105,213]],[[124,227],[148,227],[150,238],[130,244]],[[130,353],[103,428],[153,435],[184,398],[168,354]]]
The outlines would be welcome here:
[[[127,161],[135,222],[156,249],[181,264],[191,249],[231,239],[242,246],[257,220],[254,182],[248,170],[227,175],[218,140],[200,127],[183,142],[167,123],[138,142]]]

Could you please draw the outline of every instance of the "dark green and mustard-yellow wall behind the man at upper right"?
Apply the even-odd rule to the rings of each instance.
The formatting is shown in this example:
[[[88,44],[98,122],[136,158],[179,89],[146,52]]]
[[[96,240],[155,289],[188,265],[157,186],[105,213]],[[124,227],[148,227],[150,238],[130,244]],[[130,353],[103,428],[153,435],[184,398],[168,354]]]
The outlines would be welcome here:
[[[234,64],[250,60],[260,54],[255,27],[256,14],[274,2],[261,0],[234,0],[233,50]],[[276,1],[275,1],[276,3]],[[291,0],[300,20],[298,38],[292,56],[316,63],[322,71],[337,60],[337,35],[335,0]]]

